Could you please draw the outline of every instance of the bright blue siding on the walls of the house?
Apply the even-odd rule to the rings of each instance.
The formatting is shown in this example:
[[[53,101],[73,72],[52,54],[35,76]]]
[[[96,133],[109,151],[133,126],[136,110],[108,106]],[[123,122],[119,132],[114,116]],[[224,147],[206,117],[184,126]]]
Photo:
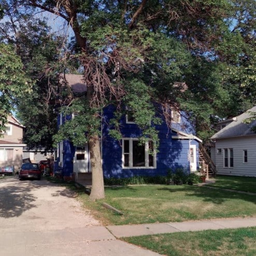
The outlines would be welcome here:
[[[189,139],[172,139],[176,132],[169,130],[166,123],[157,125],[156,129],[159,131],[160,146],[157,153],[157,167],[156,168],[122,168],[122,141],[113,139],[108,135],[110,129],[108,123],[113,117],[113,108],[109,107],[104,111],[104,118],[102,122],[102,159],[103,159],[103,173],[104,177],[132,177],[132,176],[158,176],[167,174],[168,169],[176,170],[177,168],[188,169],[189,166],[189,146],[196,145],[198,151],[198,143],[195,140]],[[71,117],[63,117],[69,120]],[[60,123],[60,118],[58,120]],[[137,138],[141,136],[141,130],[136,124],[126,124],[125,117],[121,120],[120,129],[123,137]],[[186,130],[183,132],[192,133],[193,129],[186,123]],[[177,130],[181,130],[180,124],[175,124]],[[71,176],[73,173],[73,158],[75,155],[75,147],[69,141],[64,141],[63,144],[63,175]],[[61,153],[61,152],[60,152]],[[198,162],[198,153],[197,153]],[[198,165],[197,165],[198,166]]]

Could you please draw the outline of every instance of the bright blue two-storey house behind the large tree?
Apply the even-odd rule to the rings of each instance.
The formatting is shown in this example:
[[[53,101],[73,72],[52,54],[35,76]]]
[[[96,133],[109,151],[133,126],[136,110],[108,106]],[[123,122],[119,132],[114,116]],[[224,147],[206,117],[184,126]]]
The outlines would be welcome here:
[[[66,75],[66,80],[73,90],[76,90],[74,84],[76,88],[82,88],[82,76]],[[144,145],[139,144],[138,138],[141,136],[141,130],[129,116],[123,116],[121,119],[122,140],[109,136],[108,123],[113,116],[113,110],[111,106],[105,108],[102,117],[101,161],[105,178],[165,176],[170,168],[172,170],[184,168],[190,172],[198,169],[198,143],[202,140],[191,133],[193,130],[191,126],[188,127],[188,123],[184,125],[186,121],[179,112],[173,111],[172,113],[172,129],[169,129],[165,122],[155,126],[160,138],[159,148],[156,150],[154,141],[148,141]],[[58,123],[62,125],[71,118],[72,116],[60,115]],[[182,127],[187,127],[189,132]],[[78,147],[68,140],[63,141],[59,144],[56,160],[64,177],[78,177],[81,173],[91,172],[87,144]]]

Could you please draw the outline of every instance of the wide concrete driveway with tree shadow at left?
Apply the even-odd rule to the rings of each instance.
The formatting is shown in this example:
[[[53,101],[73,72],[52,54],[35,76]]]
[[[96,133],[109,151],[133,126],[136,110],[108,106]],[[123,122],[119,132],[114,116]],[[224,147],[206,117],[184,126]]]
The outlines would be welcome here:
[[[117,240],[76,195],[42,180],[0,180],[0,254],[154,256]]]

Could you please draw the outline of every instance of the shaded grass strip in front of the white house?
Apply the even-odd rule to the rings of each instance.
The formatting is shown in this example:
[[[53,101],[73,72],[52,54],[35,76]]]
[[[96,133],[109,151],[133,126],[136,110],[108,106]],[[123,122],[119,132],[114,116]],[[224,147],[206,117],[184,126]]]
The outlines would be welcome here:
[[[238,177],[238,176],[221,176],[218,175],[216,183],[207,186],[220,189],[234,189],[246,192],[256,193],[256,178],[255,177]]]

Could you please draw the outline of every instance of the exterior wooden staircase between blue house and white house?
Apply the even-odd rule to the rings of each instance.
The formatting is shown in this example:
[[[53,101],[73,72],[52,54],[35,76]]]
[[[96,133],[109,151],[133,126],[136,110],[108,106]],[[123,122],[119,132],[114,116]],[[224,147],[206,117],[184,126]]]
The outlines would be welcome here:
[[[202,143],[199,143],[199,164],[203,175],[208,177],[216,176],[216,166],[214,162],[212,162]]]

